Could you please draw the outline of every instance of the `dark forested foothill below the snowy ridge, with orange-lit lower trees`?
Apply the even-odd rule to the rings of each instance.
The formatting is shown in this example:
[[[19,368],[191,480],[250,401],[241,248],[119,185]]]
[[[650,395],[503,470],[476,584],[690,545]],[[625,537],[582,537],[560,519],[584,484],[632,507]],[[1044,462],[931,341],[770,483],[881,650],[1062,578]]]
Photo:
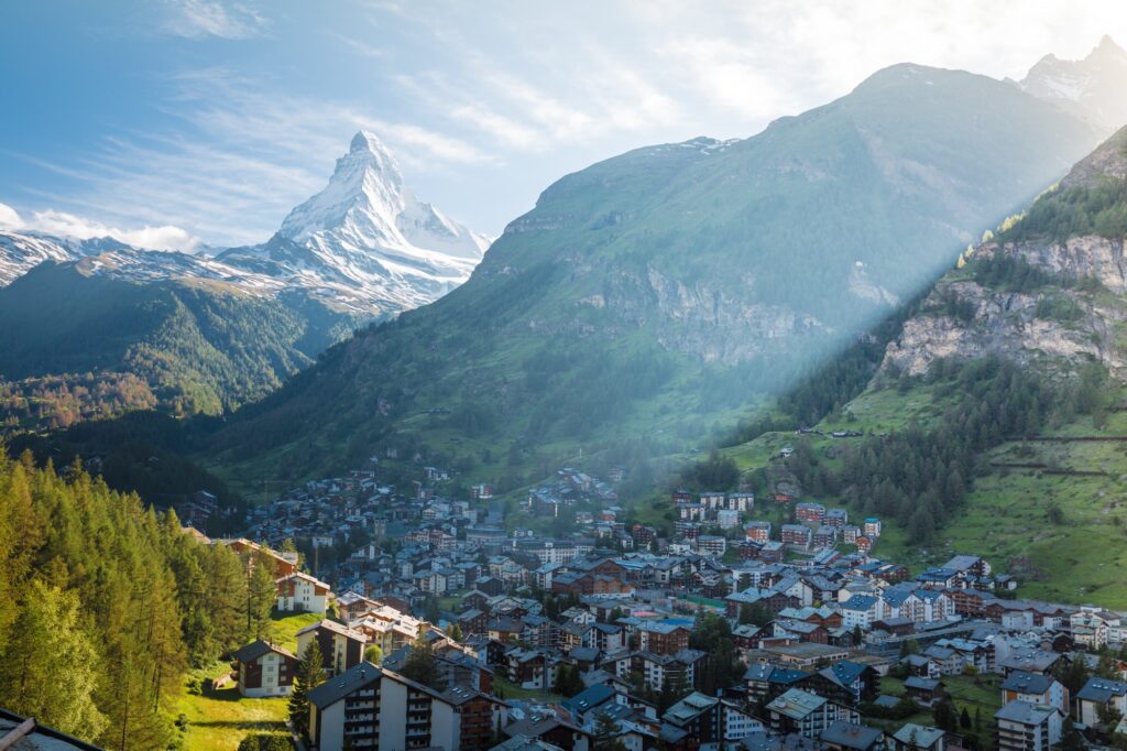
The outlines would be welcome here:
[[[220,414],[276,389],[357,324],[221,282],[91,273],[92,260],[44,264],[0,289],[0,423]]]

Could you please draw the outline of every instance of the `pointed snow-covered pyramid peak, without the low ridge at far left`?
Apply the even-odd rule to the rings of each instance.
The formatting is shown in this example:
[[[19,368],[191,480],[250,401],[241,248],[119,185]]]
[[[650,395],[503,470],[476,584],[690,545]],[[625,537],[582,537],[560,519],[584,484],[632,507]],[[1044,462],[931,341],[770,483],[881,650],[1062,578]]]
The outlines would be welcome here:
[[[328,186],[291,211],[268,242],[218,258],[381,315],[451,291],[488,244],[416,198],[387,147],[362,131]]]

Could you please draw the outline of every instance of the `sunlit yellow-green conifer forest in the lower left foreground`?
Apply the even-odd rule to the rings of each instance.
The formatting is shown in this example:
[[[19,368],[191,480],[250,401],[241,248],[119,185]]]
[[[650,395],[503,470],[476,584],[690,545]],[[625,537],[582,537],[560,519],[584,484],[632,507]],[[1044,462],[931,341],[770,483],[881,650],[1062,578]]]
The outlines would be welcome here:
[[[0,560],[0,706],[106,749],[170,748],[166,696],[265,634],[276,592],[175,515],[3,451]]]

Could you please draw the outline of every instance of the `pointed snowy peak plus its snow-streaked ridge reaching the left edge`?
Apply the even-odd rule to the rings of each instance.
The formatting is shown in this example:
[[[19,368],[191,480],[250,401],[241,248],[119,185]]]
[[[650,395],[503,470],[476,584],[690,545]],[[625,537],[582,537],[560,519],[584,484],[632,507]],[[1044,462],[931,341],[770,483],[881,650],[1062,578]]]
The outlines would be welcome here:
[[[112,238],[0,230],[0,286],[43,262],[135,282],[223,282],[258,297],[298,292],[360,318],[432,302],[470,277],[489,240],[415,197],[394,157],[362,131],[328,186],[268,241],[213,254],[149,251]]]

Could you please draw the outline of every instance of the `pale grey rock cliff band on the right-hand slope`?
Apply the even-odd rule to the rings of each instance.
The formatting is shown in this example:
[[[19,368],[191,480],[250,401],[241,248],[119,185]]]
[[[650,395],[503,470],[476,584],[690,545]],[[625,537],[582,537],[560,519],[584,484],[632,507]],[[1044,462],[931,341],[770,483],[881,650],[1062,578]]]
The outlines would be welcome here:
[[[1005,257],[1044,272],[1050,283],[1032,292],[986,286],[977,263]],[[987,353],[1049,370],[1102,363],[1127,380],[1127,265],[1124,238],[1085,236],[1067,242],[988,242],[967,270],[942,280],[889,344],[882,370],[919,376],[938,359]],[[1098,284],[1097,284],[1098,283]]]

